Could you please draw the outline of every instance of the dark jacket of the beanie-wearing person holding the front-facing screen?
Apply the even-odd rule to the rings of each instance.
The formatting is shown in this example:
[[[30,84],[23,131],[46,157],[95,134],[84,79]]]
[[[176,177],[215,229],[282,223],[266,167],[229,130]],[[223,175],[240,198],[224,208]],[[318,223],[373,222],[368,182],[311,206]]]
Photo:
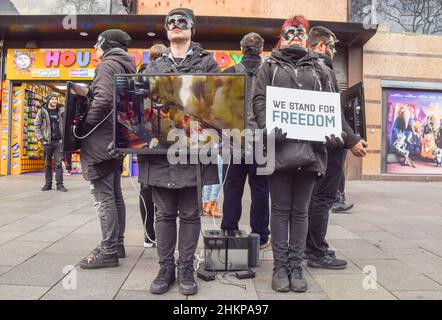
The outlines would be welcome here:
[[[143,65],[140,73],[217,73],[219,66],[198,43],[192,42],[180,65],[173,61],[170,48],[155,61]],[[138,180],[144,185],[181,189],[197,185],[196,165],[171,165],[166,155],[138,155]],[[217,184],[216,165],[202,166],[204,185]]]

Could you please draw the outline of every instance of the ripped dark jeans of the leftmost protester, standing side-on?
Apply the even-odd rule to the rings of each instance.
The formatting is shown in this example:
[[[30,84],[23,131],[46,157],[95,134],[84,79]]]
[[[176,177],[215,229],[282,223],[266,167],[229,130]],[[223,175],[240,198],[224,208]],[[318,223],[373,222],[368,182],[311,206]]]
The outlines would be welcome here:
[[[126,206],[121,192],[121,170],[91,181],[91,194],[101,223],[101,251],[116,254],[117,245],[124,245]]]

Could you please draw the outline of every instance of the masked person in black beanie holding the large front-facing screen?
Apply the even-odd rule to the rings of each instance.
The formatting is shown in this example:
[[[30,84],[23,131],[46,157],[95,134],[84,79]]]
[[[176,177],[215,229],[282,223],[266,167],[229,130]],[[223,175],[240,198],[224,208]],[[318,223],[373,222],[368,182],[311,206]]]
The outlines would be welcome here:
[[[219,72],[217,63],[198,43],[192,42],[195,33],[193,11],[178,8],[170,11],[165,20],[170,48],[143,70],[144,73],[213,73]],[[179,217],[178,285],[184,295],[198,291],[194,279],[193,260],[201,231],[197,192],[197,167],[190,164],[171,165],[167,156],[148,155],[139,163],[139,180],[152,187],[157,207],[155,231],[160,271],[150,286],[153,294],[162,294],[175,282],[174,252],[177,243]],[[213,168],[212,168],[213,167]],[[218,183],[216,167],[203,170],[207,185]]]

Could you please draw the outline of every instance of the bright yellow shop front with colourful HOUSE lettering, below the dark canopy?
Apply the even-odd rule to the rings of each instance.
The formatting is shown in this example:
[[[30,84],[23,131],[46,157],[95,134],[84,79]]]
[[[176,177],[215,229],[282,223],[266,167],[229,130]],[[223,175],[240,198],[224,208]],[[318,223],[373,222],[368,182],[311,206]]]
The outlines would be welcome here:
[[[130,49],[129,53],[137,67],[149,59],[148,50]],[[242,59],[239,51],[213,50],[210,53],[222,69]],[[59,103],[64,105],[66,81],[87,86],[97,64],[91,49],[7,50],[6,80],[2,84],[2,175],[44,170],[43,148],[35,135],[37,112],[47,102],[49,93],[57,93]],[[67,162],[66,159],[66,165]],[[72,154],[71,167],[70,173],[81,172],[78,152]],[[128,158],[126,169],[131,170],[131,174],[137,173],[136,157]]]

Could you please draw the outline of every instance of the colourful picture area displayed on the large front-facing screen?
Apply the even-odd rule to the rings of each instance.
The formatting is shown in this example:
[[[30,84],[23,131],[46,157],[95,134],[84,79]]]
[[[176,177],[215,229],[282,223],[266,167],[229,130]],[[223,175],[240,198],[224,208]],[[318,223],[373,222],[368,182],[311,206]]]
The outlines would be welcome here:
[[[245,90],[244,74],[116,75],[114,145],[125,153],[166,154],[172,145],[220,142],[223,129],[244,129]]]

